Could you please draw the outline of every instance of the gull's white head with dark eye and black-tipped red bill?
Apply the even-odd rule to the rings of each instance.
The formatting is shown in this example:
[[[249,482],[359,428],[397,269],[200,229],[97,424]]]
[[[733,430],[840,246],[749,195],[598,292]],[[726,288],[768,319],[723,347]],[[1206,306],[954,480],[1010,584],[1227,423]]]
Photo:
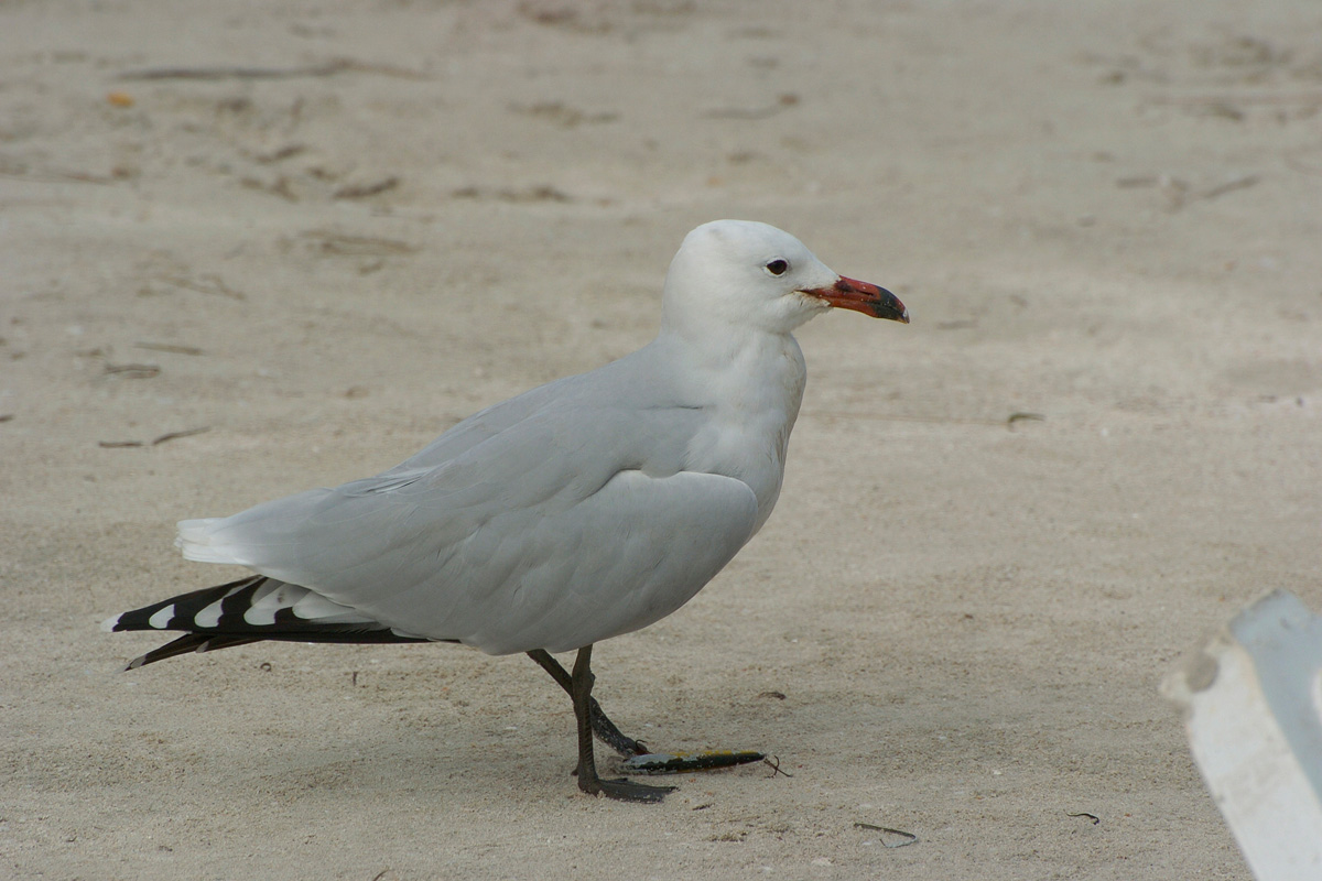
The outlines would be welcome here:
[[[682,333],[788,334],[833,306],[908,322],[890,291],[841,276],[784,230],[713,221],[689,232],[670,262],[662,322]]]

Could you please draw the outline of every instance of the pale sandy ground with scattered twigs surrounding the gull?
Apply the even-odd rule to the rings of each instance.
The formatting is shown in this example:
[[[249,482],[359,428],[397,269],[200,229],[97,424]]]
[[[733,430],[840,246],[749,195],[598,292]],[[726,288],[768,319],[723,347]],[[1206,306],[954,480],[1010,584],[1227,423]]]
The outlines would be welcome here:
[[[1307,0],[5,3],[0,874],[1248,878],[1157,686],[1268,588],[1322,608],[1319,30]],[[776,515],[599,646],[598,693],[792,777],[579,795],[554,684],[455,646],[116,672],[159,641],[103,617],[231,576],[177,519],[637,347],[719,217],[914,324],[800,333]]]

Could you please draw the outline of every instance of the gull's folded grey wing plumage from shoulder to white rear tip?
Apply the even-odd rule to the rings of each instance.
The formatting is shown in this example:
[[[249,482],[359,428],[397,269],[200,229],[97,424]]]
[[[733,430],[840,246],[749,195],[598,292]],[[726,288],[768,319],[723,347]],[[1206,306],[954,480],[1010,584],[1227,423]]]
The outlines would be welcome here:
[[[180,543],[190,559],[247,565],[402,631],[504,654],[646,626],[751,538],[758,502],[742,481],[649,474],[596,445],[557,449],[564,425],[541,428],[435,468],[185,520]],[[592,429],[609,436],[612,420]]]

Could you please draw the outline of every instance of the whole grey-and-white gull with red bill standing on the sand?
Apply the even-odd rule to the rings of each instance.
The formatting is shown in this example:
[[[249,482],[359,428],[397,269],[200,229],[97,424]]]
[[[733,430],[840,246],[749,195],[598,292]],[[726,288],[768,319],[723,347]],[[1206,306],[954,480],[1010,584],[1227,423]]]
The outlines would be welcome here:
[[[788,232],[705,223],[670,263],[650,343],[469,416],[377,477],[182,520],[186,559],[255,575],[103,627],[185,631],[130,670],[260,639],[527,652],[574,701],[590,794],[673,789],[598,777],[594,733],[635,770],[761,758],[649,754],[592,699],[592,643],[682,606],[767,522],[806,379],[792,332],[833,306],[908,322]],[[549,652],[571,649],[568,672]]]

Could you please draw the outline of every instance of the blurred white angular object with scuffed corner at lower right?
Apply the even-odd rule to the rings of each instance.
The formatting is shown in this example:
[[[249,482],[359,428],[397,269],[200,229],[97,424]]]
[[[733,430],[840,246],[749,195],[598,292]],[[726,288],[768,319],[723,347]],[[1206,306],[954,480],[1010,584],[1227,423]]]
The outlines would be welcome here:
[[[1276,590],[1166,676],[1259,881],[1322,878],[1322,618]]]

